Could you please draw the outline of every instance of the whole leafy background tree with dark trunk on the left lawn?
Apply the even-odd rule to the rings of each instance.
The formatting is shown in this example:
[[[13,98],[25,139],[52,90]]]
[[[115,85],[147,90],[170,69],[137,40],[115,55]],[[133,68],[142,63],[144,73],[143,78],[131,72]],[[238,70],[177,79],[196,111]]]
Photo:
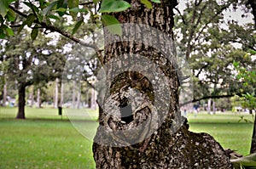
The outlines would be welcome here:
[[[9,63],[9,78],[17,83],[19,101],[17,118],[25,118],[26,87],[32,84],[45,84],[60,76],[65,59],[56,53],[56,48],[49,45],[49,38],[40,37],[32,41],[26,32],[10,37],[6,42],[3,56]],[[62,63],[58,63],[61,60]],[[62,64],[62,65],[61,65]]]

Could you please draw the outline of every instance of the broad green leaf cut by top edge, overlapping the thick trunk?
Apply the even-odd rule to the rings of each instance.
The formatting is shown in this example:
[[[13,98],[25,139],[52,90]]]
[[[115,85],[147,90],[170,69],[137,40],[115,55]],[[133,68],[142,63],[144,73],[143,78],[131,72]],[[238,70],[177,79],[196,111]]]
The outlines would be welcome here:
[[[103,0],[103,2],[99,10],[101,13],[121,12],[131,7],[131,4],[125,1]]]

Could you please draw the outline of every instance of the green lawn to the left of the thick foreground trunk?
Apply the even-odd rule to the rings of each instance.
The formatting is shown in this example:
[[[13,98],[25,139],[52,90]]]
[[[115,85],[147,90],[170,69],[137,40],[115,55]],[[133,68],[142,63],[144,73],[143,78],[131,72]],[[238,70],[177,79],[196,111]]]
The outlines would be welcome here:
[[[95,168],[92,142],[66,120],[67,115],[61,121],[54,109],[27,108],[24,121],[13,118],[15,108],[0,109],[0,168]],[[84,122],[87,130],[96,129],[95,122]]]

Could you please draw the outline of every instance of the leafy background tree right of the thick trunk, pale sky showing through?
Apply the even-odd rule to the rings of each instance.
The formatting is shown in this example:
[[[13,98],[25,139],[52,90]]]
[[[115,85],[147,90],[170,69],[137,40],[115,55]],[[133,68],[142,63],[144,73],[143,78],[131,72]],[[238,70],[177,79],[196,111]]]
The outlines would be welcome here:
[[[188,59],[194,75],[191,102],[247,93],[247,87],[232,76],[232,62],[236,59],[242,65],[254,65],[251,58],[244,56],[249,48],[255,48],[255,32],[252,23],[239,25],[235,19],[224,20],[225,11],[232,10],[235,4],[238,5],[235,1],[189,1],[183,12],[176,8],[177,46],[180,55]]]

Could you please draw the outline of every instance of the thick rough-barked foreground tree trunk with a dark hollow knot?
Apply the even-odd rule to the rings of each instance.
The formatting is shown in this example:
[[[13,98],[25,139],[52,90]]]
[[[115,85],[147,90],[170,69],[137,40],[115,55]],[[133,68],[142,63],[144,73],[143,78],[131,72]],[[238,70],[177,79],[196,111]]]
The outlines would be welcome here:
[[[123,25],[122,38],[104,30],[102,62],[110,88],[98,97],[102,110],[93,144],[96,168],[231,168],[220,144],[207,133],[189,132],[189,125],[182,123],[180,72],[170,41],[176,5],[176,0],[163,0],[148,9],[132,0],[131,8],[115,17],[143,25]]]

